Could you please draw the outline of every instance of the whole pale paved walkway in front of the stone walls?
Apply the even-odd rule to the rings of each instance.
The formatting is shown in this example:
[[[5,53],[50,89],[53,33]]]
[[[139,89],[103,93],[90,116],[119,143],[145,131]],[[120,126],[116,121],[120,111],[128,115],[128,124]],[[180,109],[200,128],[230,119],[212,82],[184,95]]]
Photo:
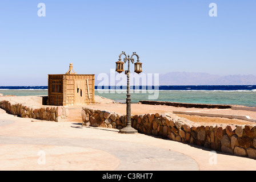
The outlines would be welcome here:
[[[33,121],[33,122],[31,122]],[[144,134],[0,110],[0,170],[255,170],[256,160]],[[215,163],[214,163],[215,162]]]

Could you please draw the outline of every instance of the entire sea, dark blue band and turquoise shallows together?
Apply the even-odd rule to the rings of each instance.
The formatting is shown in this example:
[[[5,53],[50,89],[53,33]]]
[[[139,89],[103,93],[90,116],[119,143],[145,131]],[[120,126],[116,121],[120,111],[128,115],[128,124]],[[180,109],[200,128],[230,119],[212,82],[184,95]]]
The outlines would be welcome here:
[[[125,103],[126,86],[95,86],[95,95]],[[47,86],[0,86],[0,93],[15,96],[47,96]],[[225,104],[256,107],[256,85],[131,86],[131,102],[141,100],[191,104]]]

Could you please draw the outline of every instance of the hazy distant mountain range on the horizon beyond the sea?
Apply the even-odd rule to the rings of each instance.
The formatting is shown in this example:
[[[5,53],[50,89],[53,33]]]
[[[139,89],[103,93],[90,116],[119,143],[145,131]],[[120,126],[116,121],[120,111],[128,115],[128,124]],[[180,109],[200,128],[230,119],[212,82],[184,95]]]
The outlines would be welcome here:
[[[110,84],[110,74],[106,75],[109,77],[109,80],[107,82]],[[115,75],[118,75],[118,73],[115,73]],[[152,80],[154,85],[154,77],[152,78]],[[125,80],[123,81],[125,81],[126,83],[126,76]],[[99,82],[101,82],[102,84],[102,77],[99,77],[99,80],[97,80],[97,75],[95,75],[95,85],[98,85]],[[115,84],[117,84],[118,82],[119,80],[115,80]],[[170,72],[165,74],[159,74],[159,85],[256,85],[256,76],[219,76],[211,75],[209,73]]]

